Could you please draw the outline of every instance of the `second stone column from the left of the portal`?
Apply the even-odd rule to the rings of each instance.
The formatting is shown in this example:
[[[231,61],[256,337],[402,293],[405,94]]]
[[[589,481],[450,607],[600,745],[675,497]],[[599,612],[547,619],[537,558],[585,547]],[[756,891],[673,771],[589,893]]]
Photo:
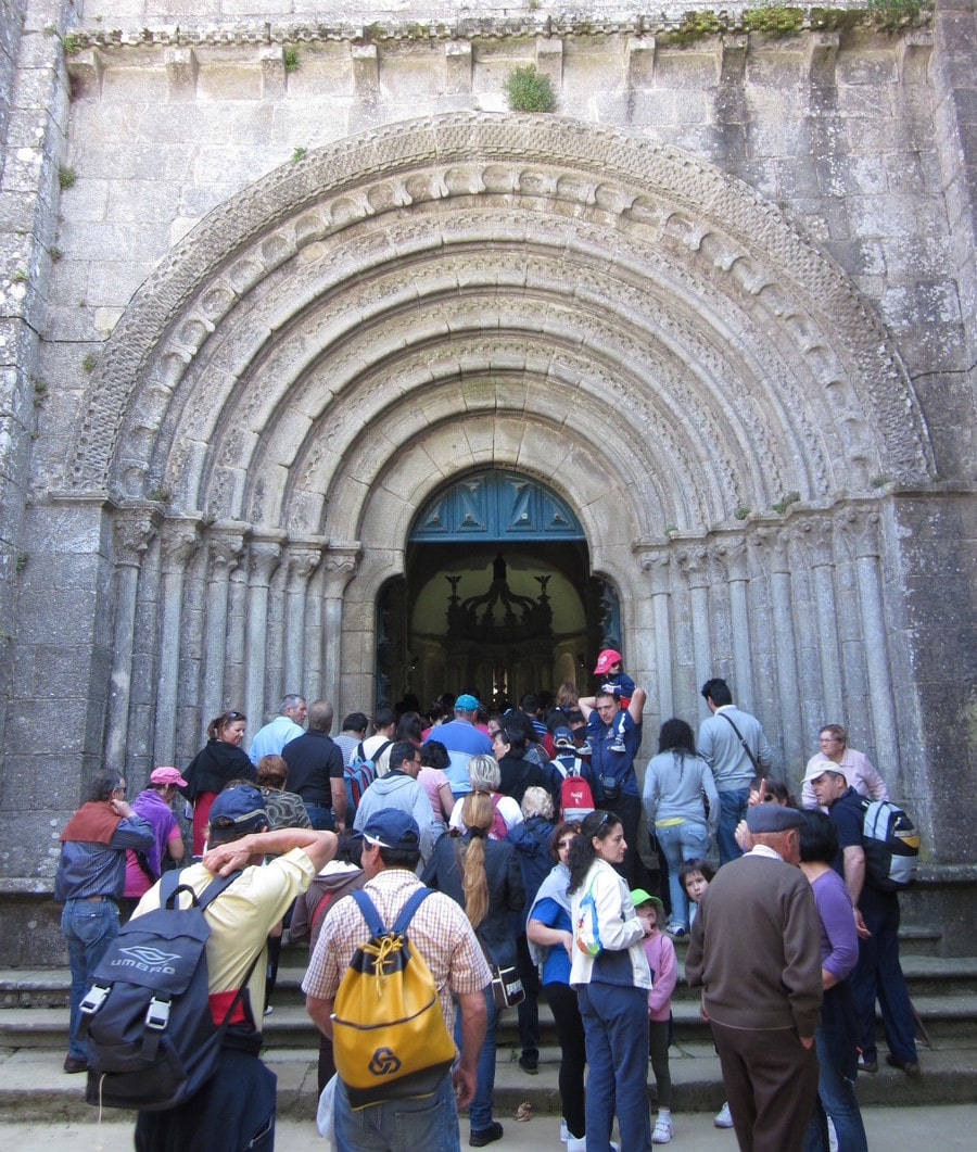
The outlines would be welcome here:
[[[165,520],[161,529],[161,630],[159,681],[156,694],[153,760],[173,764],[176,757],[176,692],[180,673],[183,575],[200,544],[196,520]]]

